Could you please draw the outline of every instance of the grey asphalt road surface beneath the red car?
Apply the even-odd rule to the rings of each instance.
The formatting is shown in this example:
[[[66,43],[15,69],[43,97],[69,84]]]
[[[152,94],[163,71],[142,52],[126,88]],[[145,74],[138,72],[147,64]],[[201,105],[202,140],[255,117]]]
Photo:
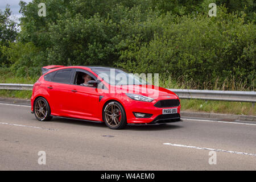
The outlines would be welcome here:
[[[38,164],[39,151],[46,164]],[[0,170],[255,169],[256,122],[183,118],[111,130],[56,117],[39,122],[29,106],[0,103]]]

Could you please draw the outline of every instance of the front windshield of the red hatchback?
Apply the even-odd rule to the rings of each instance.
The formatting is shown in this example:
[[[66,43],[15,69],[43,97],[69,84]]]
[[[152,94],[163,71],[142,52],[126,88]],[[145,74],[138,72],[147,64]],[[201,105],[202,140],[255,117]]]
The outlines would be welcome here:
[[[110,85],[146,85],[147,82],[137,74],[127,73],[121,69],[100,68],[92,69],[99,77],[104,79]]]

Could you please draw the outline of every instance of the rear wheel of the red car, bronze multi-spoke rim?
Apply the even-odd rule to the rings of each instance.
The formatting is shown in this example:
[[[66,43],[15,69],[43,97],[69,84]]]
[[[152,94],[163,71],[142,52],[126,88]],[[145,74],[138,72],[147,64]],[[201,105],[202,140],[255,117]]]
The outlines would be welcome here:
[[[39,121],[50,121],[52,119],[51,109],[45,98],[39,97],[35,100],[34,114]]]

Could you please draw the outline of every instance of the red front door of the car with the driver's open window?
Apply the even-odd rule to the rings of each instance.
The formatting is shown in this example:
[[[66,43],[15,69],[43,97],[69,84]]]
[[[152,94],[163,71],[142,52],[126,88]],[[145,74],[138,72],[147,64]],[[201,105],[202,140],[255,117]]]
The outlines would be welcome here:
[[[83,119],[98,120],[97,118],[100,118],[101,114],[97,111],[100,94],[96,87],[76,85],[76,75],[78,72],[86,73],[96,80],[96,77],[92,73],[83,69],[76,70],[72,85],[72,90],[74,90],[71,103],[73,114]]]

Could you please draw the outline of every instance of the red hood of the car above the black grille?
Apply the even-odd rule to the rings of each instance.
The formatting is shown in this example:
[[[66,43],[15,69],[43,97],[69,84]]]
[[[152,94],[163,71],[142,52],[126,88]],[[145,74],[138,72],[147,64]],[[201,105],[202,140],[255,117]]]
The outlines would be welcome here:
[[[140,94],[154,99],[162,96],[178,98],[171,90],[154,85],[121,85],[115,86],[115,89],[118,90],[118,92]]]

